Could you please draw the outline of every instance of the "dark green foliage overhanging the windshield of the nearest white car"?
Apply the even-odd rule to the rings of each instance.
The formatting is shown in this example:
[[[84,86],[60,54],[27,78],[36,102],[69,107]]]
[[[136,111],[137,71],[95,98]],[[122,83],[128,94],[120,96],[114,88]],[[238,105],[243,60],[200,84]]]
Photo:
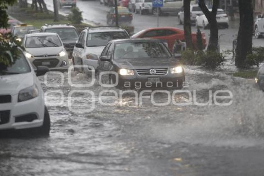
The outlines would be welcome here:
[[[4,70],[7,66],[12,64],[10,60],[5,57],[6,51],[10,51],[13,58],[17,59],[19,53],[18,47],[24,49],[21,47],[21,43],[18,42],[11,33],[0,35],[0,70]]]

